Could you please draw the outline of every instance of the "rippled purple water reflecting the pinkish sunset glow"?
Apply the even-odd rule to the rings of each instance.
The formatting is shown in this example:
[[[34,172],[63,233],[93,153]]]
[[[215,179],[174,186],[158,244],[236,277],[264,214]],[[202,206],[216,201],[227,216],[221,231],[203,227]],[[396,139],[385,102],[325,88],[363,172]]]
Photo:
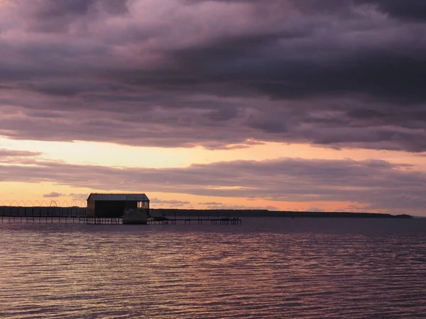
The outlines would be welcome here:
[[[426,318],[426,220],[0,224],[1,318]]]

